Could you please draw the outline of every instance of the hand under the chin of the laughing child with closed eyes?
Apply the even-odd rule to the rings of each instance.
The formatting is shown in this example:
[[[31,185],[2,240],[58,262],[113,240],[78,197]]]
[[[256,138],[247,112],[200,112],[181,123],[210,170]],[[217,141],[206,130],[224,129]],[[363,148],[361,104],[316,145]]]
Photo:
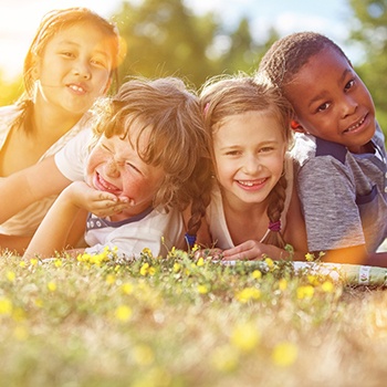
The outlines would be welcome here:
[[[97,217],[108,217],[122,212],[129,207],[129,199],[116,197],[113,194],[98,191],[84,181],[72,182],[64,191],[69,200],[79,208],[83,208]]]

